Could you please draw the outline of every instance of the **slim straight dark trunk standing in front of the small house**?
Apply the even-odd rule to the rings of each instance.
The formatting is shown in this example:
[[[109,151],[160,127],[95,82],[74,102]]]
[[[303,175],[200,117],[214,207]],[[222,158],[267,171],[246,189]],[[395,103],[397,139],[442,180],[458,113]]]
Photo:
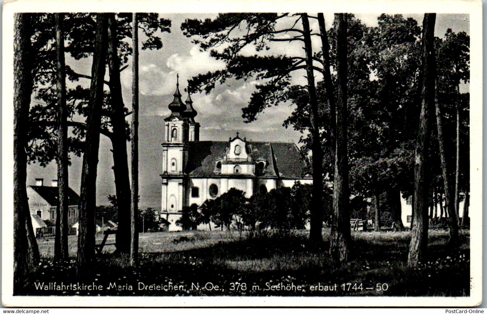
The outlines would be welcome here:
[[[57,187],[56,239],[54,259],[68,259],[68,111],[66,108],[66,70],[64,62],[64,14],[56,13],[56,90],[57,90]]]

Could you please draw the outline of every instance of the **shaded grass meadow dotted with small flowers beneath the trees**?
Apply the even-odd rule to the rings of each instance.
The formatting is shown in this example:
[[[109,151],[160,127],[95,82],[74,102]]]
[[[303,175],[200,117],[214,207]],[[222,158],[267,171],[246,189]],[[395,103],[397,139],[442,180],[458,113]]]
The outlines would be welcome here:
[[[339,267],[328,254],[329,233],[324,229],[324,242],[317,247],[310,246],[304,230],[140,233],[138,267],[130,267],[110,245],[96,256],[92,276],[82,279],[75,275],[75,236],[69,239],[68,262],[53,262],[54,239],[40,238],[42,261],[24,294],[461,297],[470,293],[468,230],[460,231],[461,244],[454,250],[446,247],[448,231],[430,230],[427,255],[414,269],[406,266],[410,231],[352,232],[350,262]],[[113,237],[108,243],[114,242]],[[178,243],[181,237],[189,241]],[[39,289],[41,283],[45,287],[53,282],[102,289]]]

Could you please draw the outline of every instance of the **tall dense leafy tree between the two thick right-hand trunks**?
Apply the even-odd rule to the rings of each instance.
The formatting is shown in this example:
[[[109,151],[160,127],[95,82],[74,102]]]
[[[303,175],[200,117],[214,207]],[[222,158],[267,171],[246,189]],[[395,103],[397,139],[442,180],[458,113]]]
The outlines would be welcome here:
[[[377,21],[378,26],[368,28],[363,44],[355,49],[365,50],[364,59],[370,68],[355,73],[362,77],[368,73],[375,79],[358,81],[356,85],[369,91],[352,87],[349,96],[353,107],[349,141],[351,188],[354,194],[372,197],[375,203],[386,191],[388,196],[382,205],[393,209],[394,227],[401,230],[400,191],[411,190],[415,136],[411,130],[419,116],[416,103],[420,28],[414,19],[402,15],[382,14]],[[356,102],[360,97],[357,95],[368,95],[368,101]],[[381,214],[377,211],[376,216],[380,218]]]

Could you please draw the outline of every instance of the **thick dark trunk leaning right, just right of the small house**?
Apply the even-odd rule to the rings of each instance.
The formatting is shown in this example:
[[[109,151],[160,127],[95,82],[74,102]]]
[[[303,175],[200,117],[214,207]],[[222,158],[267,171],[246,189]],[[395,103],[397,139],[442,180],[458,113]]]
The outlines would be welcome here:
[[[107,58],[107,14],[96,15],[96,34],[86,119],[85,152],[79,200],[77,275],[89,274],[94,260],[94,211],[96,208],[96,167],[100,143],[100,111],[103,104],[103,78]]]

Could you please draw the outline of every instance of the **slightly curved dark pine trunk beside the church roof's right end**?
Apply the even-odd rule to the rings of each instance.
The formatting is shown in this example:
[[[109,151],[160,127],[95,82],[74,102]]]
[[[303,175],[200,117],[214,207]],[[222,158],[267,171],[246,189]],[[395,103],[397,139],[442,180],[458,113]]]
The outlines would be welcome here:
[[[313,73],[313,52],[311,46],[311,31],[309,28],[308,15],[301,14],[303,24],[304,51],[306,53],[306,76],[308,80],[308,95],[311,105],[310,122],[312,134],[312,163],[313,163],[313,193],[311,196],[311,222],[309,238],[311,242],[321,242],[323,237],[321,229],[323,227],[323,151],[321,139],[319,137],[319,116],[318,101],[316,98],[315,76]]]

